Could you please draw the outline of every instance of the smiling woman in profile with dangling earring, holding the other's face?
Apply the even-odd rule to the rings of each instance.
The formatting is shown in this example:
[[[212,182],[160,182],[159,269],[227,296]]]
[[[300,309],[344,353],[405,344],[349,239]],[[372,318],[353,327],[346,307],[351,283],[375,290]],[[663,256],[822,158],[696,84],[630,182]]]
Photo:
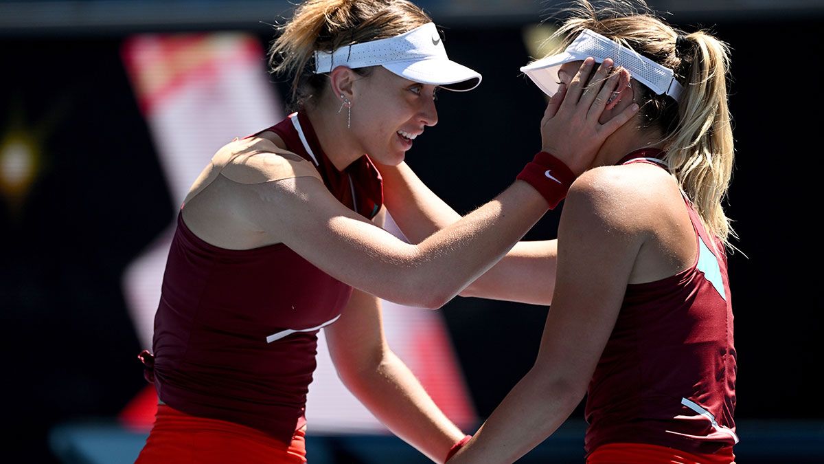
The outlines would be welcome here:
[[[377,297],[437,308],[503,256],[630,120],[637,108],[598,121],[628,74],[606,79],[609,64],[595,72],[588,60],[547,107],[554,156],[539,153],[494,201],[406,244],[381,228],[372,159],[402,162],[438,121],[436,89],[470,90],[480,74],[448,59],[404,0],[304,2],[271,53],[275,71],[295,74],[297,112],[220,149],[181,206],[154,353],[142,353],[161,405],[138,462],[306,462],[321,327],[349,390],[442,462],[466,437],[386,345]],[[583,88],[593,72],[606,83]]]

